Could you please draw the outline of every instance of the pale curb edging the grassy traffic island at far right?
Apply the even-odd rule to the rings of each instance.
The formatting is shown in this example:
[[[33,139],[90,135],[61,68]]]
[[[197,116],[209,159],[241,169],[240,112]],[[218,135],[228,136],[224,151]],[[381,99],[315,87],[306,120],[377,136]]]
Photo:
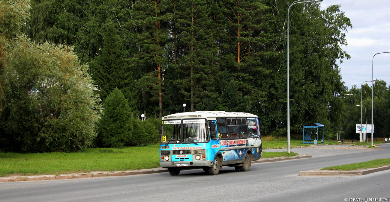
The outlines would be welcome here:
[[[328,176],[328,175],[367,175],[373,172],[379,172],[383,170],[390,170],[390,166],[383,166],[379,168],[374,169],[366,169],[366,170],[353,170],[353,171],[343,171],[343,170],[308,170],[308,171],[301,171],[299,172],[300,176],[309,176],[309,175],[321,175],[321,176]]]

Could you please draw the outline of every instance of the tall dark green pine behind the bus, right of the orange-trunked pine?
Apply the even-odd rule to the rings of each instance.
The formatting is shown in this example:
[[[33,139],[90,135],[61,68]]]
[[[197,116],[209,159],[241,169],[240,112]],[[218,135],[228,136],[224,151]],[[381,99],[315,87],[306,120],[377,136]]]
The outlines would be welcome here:
[[[167,71],[170,85],[166,88],[176,96],[167,99],[172,102],[171,109],[189,102],[191,111],[210,110],[213,107],[207,107],[204,101],[216,97],[213,61],[218,54],[210,9],[205,0],[182,0],[176,2],[174,14],[175,62]]]

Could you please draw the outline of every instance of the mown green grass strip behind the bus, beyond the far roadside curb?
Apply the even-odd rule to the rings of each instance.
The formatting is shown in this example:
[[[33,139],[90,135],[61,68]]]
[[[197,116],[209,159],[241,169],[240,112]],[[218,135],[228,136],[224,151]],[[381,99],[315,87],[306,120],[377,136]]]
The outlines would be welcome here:
[[[160,145],[123,149],[90,148],[75,153],[0,153],[0,177],[61,175],[96,171],[121,171],[160,167]],[[263,152],[262,158],[296,153]]]

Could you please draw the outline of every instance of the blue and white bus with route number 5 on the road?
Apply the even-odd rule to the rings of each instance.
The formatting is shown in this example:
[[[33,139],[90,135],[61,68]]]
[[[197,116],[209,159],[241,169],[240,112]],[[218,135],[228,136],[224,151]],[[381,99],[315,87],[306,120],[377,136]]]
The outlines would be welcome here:
[[[244,112],[197,111],[171,114],[160,127],[160,166],[173,176],[202,168],[217,175],[222,166],[248,171],[262,155],[259,119]]]

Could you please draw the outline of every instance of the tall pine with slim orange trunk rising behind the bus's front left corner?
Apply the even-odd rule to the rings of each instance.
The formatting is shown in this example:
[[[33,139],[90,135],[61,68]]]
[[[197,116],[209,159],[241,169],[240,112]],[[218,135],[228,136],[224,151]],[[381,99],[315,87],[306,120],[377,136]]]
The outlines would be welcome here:
[[[163,74],[167,67],[167,54],[172,43],[169,42],[168,22],[172,20],[170,0],[138,0],[132,9],[132,21],[128,26],[138,32],[133,43],[138,47],[138,53],[131,58],[135,75],[146,84],[137,85],[158,91],[149,98],[142,98],[144,105],[148,101],[155,103],[157,100],[158,114],[163,112]],[[154,92],[149,91],[149,92]],[[140,94],[145,97],[145,88],[140,89]],[[152,104],[154,104],[152,103]],[[145,109],[145,106],[144,106]]]

